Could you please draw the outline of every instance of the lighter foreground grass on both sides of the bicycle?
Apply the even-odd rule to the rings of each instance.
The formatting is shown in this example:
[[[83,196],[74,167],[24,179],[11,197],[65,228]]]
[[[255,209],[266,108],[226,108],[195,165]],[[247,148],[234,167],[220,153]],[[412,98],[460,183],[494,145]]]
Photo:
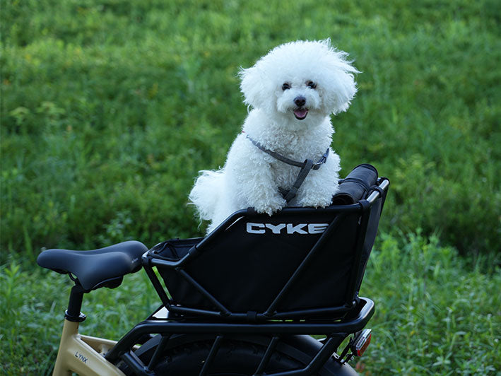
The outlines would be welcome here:
[[[5,375],[49,375],[71,283],[16,263],[0,271],[0,364]],[[499,270],[471,268],[437,237],[382,234],[361,295],[375,300],[363,375],[496,375],[501,370]],[[146,273],[87,294],[81,333],[119,339],[160,305]]]

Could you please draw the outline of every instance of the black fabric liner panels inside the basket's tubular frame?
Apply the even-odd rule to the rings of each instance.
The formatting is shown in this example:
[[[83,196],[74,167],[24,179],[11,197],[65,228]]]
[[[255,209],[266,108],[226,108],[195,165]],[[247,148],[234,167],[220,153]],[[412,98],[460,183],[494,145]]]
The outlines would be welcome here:
[[[367,189],[358,189],[358,192],[363,192],[357,197],[357,193],[353,194],[352,181],[341,182],[341,194],[348,191],[350,195],[348,201],[347,196],[343,196],[346,202],[353,197],[358,201],[367,196],[369,188],[376,182],[377,171],[373,174],[375,169],[372,166],[361,166],[358,168],[368,171],[366,175],[362,174],[369,176]],[[346,189],[343,184],[347,184]],[[322,247],[317,247],[310,264],[290,286],[276,311],[325,307],[341,307],[341,311],[344,307],[348,311],[356,298],[375,240],[383,200],[384,197],[380,197],[365,212],[368,223],[364,234],[360,234],[364,229],[360,228],[362,214],[358,204],[342,208],[331,206],[329,210],[309,209],[301,211],[300,216],[285,208],[271,217],[244,215],[233,223],[225,223],[227,228],[214,235],[211,241],[207,238],[202,242],[202,237],[168,240],[153,247],[151,254],[175,261],[201,243],[198,257],[191,259],[184,271],[230,312],[264,312],[322,237],[323,233],[317,232],[329,225],[329,236],[324,236]],[[281,233],[273,233],[273,228],[282,228]],[[288,229],[290,233],[287,233]],[[362,240],[360,236],[363,236]],[[360,250],[355,252],[360,241]],[[173,305],[217,310],[179,271],[166,266],[157,266],[157,269]]]

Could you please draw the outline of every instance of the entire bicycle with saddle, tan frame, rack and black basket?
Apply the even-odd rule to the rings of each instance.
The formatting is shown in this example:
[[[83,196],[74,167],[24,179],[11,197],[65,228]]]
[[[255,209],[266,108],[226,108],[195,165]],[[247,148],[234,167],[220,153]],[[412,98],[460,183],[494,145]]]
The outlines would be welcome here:
[[[389,180],[359,165],[340,183],[327,208],[247,208],[206,237],[43,251],[37,263],[75,283],[53,375],[357,375],[348,360],[375,311],[358,290]],[[79,334],[83,295],[140,269],[160,307],[119,341]]]

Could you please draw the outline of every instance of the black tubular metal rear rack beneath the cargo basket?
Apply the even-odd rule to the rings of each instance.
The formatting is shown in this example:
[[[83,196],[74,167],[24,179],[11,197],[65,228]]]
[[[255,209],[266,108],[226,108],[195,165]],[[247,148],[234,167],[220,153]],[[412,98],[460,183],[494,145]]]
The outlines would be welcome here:
[[[294,375],[312,375],[317,372],[324,363],[333,356],[341,345],[343,340],[350,333],[355,333],[362,330],[367,322],[369,322],[375,312],[374,302],[368,298],[360,298],[360,303],[356,307],[356,312],[351,312],[352,316],[348,319],[341,321],[328,321],[328,320],[311,320],[290,322],[285,320],[277,320],[273,322],[264,322],[261,324],[256,323],[236,323],[225,322],[222,320],[204,320],[200,321],[199,317],[155,317],[162,309],[160,307],[153,315],[148,317],[145,321],[139,323],[128,334],[126,334],[110,352],[105,356],[107,360],[116,363],[119,359],[124,360],[124,363],[134,370],[136,375],[152,376],[154,375],[151,370],[155,368],[156,362],[161,359],[161,353],[164,349],[165,343],[169,341],[170,336],[173,334],[197,334],[208,335],[212,338],[213,345],[208,352],[208,356],[204,362],[204,368],[201,370],[200,375],[204,375],[204,370],[208,369],[213,360],[213,354],[218,351],[223,339],[230,338],[235,334],[267,334],[270,336],[270,341],[264,352],[259,367],[257,368],[256,375],[259,375],[269,362],[271,353],[277,341],[282,336],[292,334],[319,334],[325,335],[326,338],[322,340],[322,346],[317,353],[313,354],[304,368],[299,370],[290,370],[287,372],[279,372],[273,374],[266,374],[269,376],[294,376]],[[142,338],[148,334],[160,334],[158,336],[158,346],[155,348],[155,353],[151,357],[148,365],[145,365],[141,359],[130,349],[141,341]],[[341,358],[334,355],[334,360],[342,363]]]

